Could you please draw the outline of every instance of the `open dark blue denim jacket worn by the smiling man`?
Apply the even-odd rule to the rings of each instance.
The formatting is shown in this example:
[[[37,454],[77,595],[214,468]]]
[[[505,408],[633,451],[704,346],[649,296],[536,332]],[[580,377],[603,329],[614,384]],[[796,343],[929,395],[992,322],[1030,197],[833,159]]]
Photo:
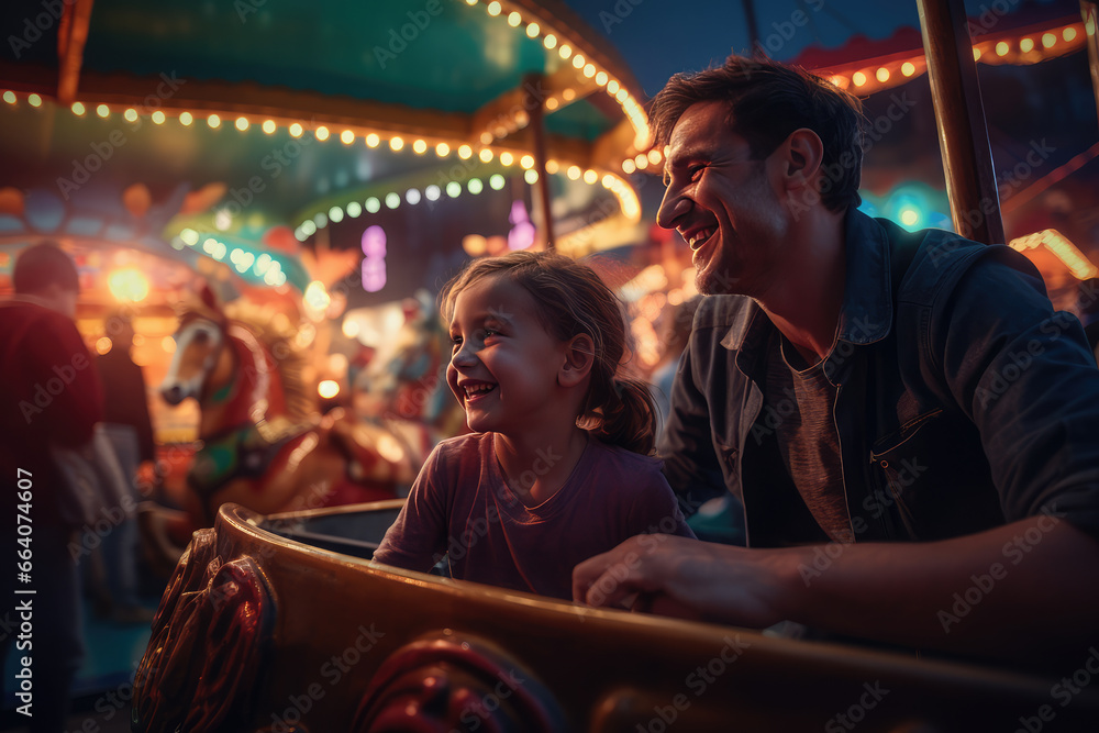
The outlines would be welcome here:
[[[825,374],[856,541],[937,540],[1056,512],[1099,535],[1099,369],[1075,315],[1007,246],[846,216],[846,288]],[[750,298],[695,318],[659,442],[688,509],[723,484],[751,546],[825,541],[778,459],[765,403],[775,326]]]

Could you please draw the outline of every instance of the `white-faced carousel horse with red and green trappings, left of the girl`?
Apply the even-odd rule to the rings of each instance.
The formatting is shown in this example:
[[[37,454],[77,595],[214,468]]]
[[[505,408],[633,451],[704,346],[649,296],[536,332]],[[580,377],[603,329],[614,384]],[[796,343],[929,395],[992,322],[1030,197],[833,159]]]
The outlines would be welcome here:
[[[230,318],[209,290],[184,311],[160,396],[201,409],[187,475],[196,526],[225,502],[264,514],[315,509],[391,499],[415,478],[420,465],[398,437],[342,409],[317,413],[295,335],[285,316]]]

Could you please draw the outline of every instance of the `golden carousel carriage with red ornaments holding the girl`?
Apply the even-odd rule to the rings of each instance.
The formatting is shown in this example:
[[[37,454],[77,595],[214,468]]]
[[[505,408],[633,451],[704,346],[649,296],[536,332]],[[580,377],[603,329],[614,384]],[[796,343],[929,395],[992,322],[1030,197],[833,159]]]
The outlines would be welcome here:
[[[956,662],[371,566],[400,501],[195,534],[137,671],[134,731],[1084,730],[1099,691]]]

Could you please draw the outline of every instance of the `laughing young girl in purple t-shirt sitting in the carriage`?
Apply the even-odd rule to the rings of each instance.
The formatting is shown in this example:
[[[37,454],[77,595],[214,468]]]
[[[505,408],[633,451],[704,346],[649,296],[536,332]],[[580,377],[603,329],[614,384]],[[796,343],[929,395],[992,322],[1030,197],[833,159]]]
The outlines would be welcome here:
[[[473,263],[440,296],[446,380],[474,434],[440,443],[374,559],[573,598],[573,567],[641,533],[693,537],[653,448],[647,386],[617,376],[619,301],[552,253]]]

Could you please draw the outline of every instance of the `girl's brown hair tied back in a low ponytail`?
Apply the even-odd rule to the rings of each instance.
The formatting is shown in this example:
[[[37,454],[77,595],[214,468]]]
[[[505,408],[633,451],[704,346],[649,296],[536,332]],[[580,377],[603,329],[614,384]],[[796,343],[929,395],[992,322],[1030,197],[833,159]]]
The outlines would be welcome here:
[[[504,276],[522,286],[535,303],[535,316],[554,338],[587,334],[595,344],[591,381],[577,425],[606,443],[650,454],[656,434],[656,408],[648,385],[619,374],[626,331],[619,299],[593,269],[552,252],[513,252],[470,263],[440,293],[443,318],[454,316],[455,300],[471,284]]]

